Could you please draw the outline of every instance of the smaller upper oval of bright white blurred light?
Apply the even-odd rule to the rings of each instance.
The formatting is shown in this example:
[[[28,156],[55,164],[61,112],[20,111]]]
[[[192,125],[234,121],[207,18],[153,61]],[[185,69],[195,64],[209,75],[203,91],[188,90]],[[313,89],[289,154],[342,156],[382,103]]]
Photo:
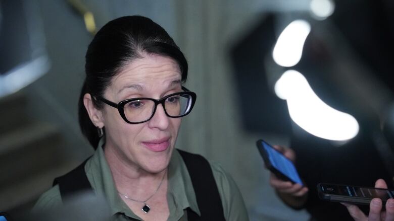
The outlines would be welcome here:
[[[311,25],[305,20],[291,22],[279,35],[272,57],[280,66],[291,67],[301,60],[305,39]]]

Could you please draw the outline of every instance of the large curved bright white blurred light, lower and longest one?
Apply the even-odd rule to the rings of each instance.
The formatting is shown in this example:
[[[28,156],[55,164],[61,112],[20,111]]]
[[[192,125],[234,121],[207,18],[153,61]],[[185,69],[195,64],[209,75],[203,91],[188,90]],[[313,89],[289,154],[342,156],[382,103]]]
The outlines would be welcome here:
[[[330,140],[348,140],[359,124],[350,114],[333,109],[312,90],[298,71],[287,70],[275,84],[275,93],[287,101],[291,119],[309,133]]]

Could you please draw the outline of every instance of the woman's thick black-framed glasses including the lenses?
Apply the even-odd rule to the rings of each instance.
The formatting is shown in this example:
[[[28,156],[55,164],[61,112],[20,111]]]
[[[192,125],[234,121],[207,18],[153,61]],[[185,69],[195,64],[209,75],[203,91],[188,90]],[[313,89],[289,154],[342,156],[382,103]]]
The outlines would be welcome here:
[[[96,97],[98,100],[117,108],[120,116],[127,123],[143,123],[150,120],[155,115],[156,108],[162,104],[167,116],[176,118],[183,117],[190,113],[197,98],[194,92],[182,87],[183,92],[167,95],[160,100],[153,98],[132,98],[119,102],[118,104],[103,97]]]

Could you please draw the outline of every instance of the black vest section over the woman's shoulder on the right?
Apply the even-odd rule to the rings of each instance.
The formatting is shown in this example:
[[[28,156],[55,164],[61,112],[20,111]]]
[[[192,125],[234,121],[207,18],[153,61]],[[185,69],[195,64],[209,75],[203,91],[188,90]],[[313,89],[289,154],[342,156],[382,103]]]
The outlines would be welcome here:
[[[177,151],[182,156],[189,172],[195,198],[201,212],[200,220],[226,220],[218,186],[209,162],[201,155],[190,154],[181,150]],[[198,220],[195,219],[195,214],[192,214],[190,210],[188,210],[187,216],[188,220]]]

